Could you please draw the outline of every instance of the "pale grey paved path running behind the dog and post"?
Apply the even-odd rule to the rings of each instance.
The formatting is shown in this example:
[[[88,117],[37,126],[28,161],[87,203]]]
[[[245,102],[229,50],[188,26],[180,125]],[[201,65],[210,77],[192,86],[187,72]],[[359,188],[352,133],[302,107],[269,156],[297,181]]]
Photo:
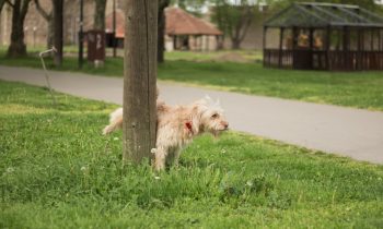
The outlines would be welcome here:
[[[123,80],[81,73],[50,72],[62,93],[121,104]],[[0,79],[45,85],[42,70],[0,65]],[[169,104],[190,103],[205,95],[219,98],[230,126],[307,148],[383,164],[383,112],[317,105],[263,96],[217,92],[160,82]]]

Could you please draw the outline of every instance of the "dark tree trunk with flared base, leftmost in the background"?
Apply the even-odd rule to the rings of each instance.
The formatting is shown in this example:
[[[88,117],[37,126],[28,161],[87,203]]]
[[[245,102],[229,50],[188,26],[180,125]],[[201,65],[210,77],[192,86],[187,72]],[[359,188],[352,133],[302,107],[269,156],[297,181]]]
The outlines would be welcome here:
[[[11,45],[8,48],[7,57],[16,58],[26,56],[24,20],[31,0],[14,0],[13,3],[10,0],[5,0],[5,2],[12,8]]]

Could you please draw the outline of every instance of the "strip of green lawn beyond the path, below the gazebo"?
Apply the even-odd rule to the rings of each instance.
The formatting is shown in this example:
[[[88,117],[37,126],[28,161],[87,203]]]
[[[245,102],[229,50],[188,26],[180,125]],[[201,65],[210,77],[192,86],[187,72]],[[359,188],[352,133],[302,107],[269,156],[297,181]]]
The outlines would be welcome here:
[[[12,60],[0,55],[0,64],[42,68],[39,59]],[[237,52],[246,56],[246,52]],[[224,55],[222,52],[222,55]],[[383,110],[382,72],[314,72],[264,69],[260,63],[217,62],[212,53],[171,52],[159,65],[159,79],[219,89],[304,101]],[[216,53],[217,56],[217,53]],[[256,57],[249,56],[252,58]],[[198,61],[196,61],[198,60]],[[55,69],[51,61],[48,68]],[[108,58],[105,67],[78,69],[76,58],[66,58],[62,71],[123,76],[123,59]]]

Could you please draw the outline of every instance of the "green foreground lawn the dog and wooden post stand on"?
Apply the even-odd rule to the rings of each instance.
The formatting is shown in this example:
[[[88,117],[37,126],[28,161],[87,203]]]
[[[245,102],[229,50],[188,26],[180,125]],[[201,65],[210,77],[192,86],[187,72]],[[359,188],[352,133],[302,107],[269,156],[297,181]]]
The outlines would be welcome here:
[[[0,81],[0,228],[383,227],[383,166],[229,132],[154,174],[101,135],[115,106],[57,98]]]

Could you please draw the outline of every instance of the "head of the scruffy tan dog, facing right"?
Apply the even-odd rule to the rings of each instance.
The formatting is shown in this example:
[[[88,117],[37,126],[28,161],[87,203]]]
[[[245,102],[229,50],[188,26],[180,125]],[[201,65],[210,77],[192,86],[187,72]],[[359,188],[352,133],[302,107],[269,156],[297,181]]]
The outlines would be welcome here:
[[[218,100],[213,101],[210,97],[206,96],[204,99],[196,101],[194,106],[196,116],[193,123],[198,132],[209,132],[218,135],[220,132],[229,129],[229,122]]]

